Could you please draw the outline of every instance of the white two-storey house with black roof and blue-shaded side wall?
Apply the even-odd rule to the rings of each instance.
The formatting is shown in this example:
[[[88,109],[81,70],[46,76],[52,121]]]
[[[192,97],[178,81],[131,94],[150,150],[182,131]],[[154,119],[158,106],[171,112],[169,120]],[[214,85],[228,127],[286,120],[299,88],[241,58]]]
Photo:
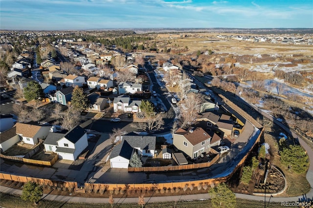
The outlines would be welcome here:
[[[44,141],[46,152],[55,152],[59,159],[76,160],[88,146],[87,131],[79,125],[66,134],[50,132]]]

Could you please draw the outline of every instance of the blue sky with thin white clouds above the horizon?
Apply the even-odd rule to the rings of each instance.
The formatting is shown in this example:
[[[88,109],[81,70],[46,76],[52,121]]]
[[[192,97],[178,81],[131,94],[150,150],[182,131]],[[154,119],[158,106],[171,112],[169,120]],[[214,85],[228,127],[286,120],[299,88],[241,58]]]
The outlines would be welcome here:
[[[0,29],[313,28],[313,0],[0,0]]]

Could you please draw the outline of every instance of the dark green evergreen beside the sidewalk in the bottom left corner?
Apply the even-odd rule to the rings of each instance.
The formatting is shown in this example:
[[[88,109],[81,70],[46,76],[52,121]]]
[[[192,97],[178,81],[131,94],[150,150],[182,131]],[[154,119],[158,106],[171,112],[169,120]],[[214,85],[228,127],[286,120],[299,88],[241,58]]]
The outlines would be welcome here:
[[[35,182],[27,182],[22,191],[21,198],[24,201],[31,201],[37,205],[37,202],[43,196],[43,187]]]

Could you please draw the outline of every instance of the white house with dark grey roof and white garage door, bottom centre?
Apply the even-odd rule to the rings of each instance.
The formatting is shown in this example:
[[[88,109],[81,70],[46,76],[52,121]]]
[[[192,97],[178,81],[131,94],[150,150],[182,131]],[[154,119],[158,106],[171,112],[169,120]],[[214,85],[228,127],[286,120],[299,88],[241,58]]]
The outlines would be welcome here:
[[[115,146],[110,154],[112,168],[128,168],[136,152],[139,156],[154,157],[156,149],[155,136],[122,136],[122,143]]]

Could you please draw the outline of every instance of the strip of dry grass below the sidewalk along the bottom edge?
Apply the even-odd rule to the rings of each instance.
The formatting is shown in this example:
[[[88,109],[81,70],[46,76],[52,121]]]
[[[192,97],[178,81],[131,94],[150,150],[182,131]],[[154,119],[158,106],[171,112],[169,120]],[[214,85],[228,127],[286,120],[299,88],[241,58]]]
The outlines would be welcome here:
[[[23,201],[19,196],[0,193],[0,206],[5,208],[111,208],[110,204],[94,204],[94,203],[69,203],[42,200],[35,206],[31,202]],[[147,200],[147,198],[145,198]],[[138,207],[138,204],[114,204],[113,207],[118,208],[134,208]],[[268,205],[268,204],[267,204]],[[269,208],[280,207],[280,203],[269,204]],[[197,201],[179,201],[179,202],[160,202],[160,203],[148,203],[145,208],[211,208],[210,200],[197,200]],[[236,208],[263,208],[264,201],[249,201],[244,199],[237,200]],[[296,207],[290,207],[296,208]]]

